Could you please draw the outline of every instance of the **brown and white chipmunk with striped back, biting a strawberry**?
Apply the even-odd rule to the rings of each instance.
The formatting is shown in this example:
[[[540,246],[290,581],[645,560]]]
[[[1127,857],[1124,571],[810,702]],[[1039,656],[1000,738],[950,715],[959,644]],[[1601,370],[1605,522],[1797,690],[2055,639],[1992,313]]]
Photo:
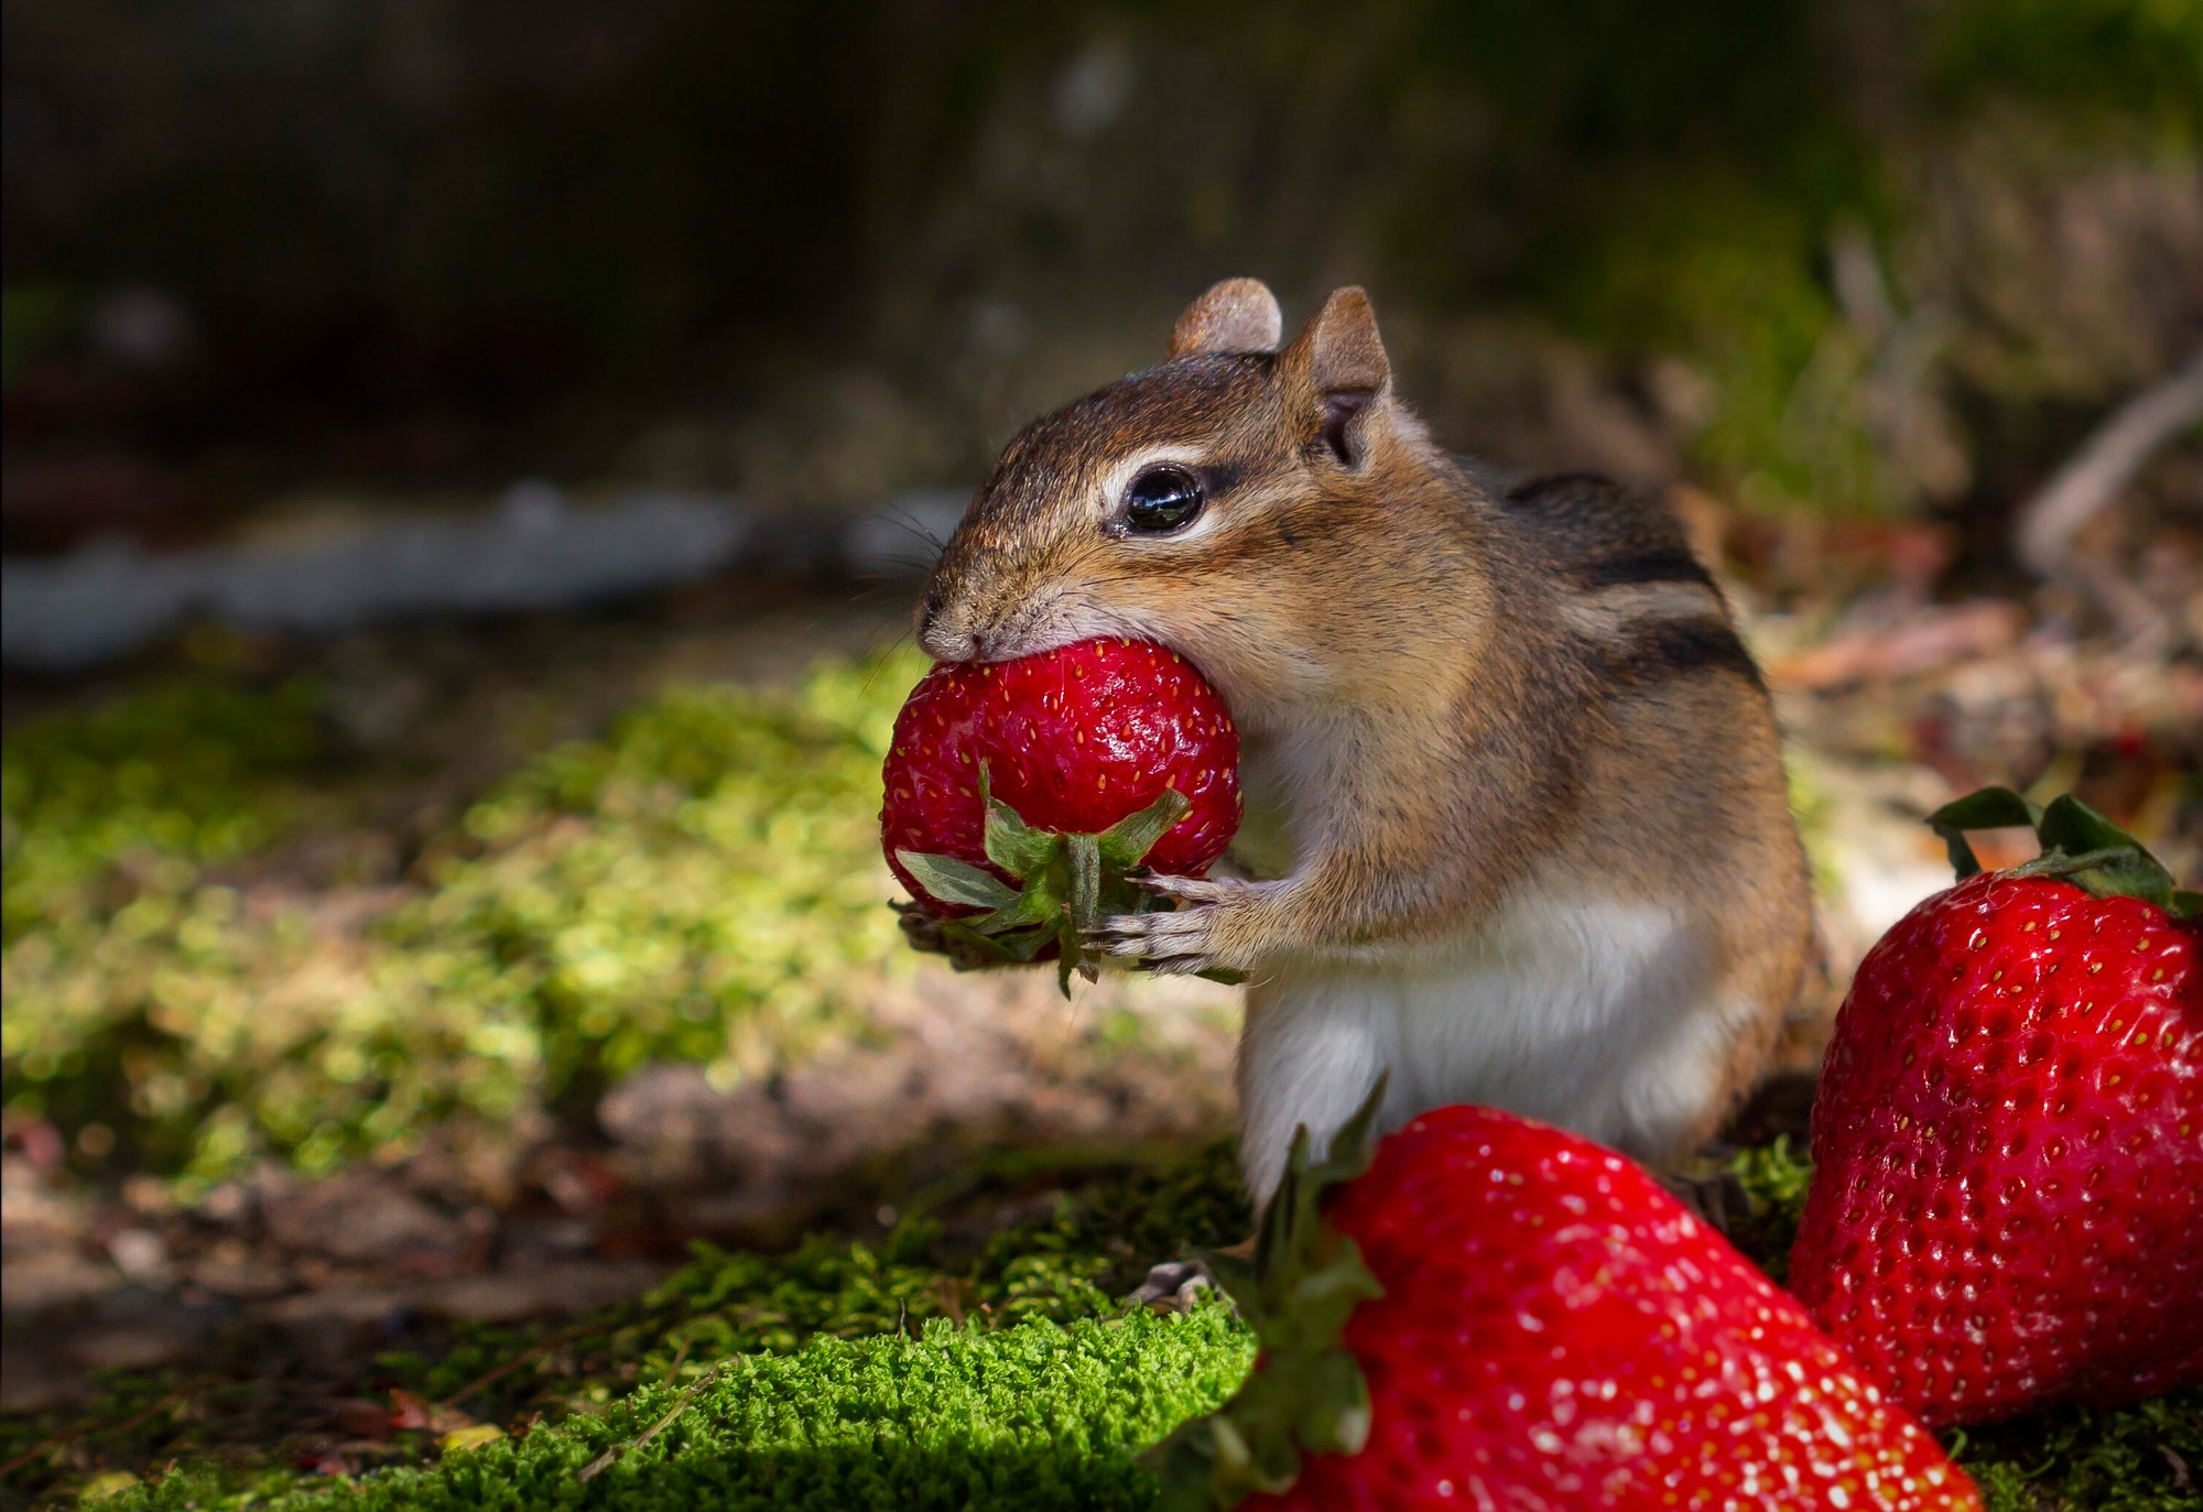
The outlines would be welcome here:
[[[1161,641],[1225,694],[1251,877],[1095,943],[1251,974],[1240,1151],[1267,1197],[1390,1071],[1381,1122],[1485,1102],[1639,1159],[1758,1078],[1813,954],[1760,674],[1681,525],[1602,478],[1496,487],[1392,392],[1339,289],[1280,348],[1216,284],[1168,359],[1027,425],[916,611],[941,661]],[[1249,822],[1247,835],[1260,824]],[[1267,875],[1265,875],[1267,873]]]

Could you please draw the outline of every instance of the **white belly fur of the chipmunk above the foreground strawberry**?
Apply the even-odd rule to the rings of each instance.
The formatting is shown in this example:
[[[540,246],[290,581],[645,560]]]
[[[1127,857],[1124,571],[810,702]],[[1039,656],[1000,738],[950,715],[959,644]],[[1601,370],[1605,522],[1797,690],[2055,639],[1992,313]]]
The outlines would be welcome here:
[[[1716,1093],[1749,1005],[1721,1003],[1705,930],[1668,908],[1518,895],[1476,935],[1280,963],[1249,990],[1240,1159],[1267,1197],[1293,1128],[1322,1151],[1390,1071],[1383,1128],[1483,1102],[1628,1153],[1665,1151]]]

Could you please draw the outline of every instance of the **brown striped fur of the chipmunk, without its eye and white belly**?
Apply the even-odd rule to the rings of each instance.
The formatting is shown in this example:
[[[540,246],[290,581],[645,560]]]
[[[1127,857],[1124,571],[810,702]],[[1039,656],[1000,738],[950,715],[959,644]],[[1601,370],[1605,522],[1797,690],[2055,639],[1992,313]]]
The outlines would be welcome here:
[[[1729,1025],[1710,1133],[1756,1078],[1811,948],[1806,871],[1765,688],[1681,525],[1595,478],[1483,485],[1392,395],[1359,289],[1284,350],[1229,280],[1172,357],[1020,432],[919,611],[943,659],[1088,635],[1165,641],[1282,774],[1295,864],[1168,882],[1119,919],[1161,970],[1474,930],[1533,873],[1674,904],[1714,935]],[[1192,467],[1203,516],[1128,527],[1143,458]]]

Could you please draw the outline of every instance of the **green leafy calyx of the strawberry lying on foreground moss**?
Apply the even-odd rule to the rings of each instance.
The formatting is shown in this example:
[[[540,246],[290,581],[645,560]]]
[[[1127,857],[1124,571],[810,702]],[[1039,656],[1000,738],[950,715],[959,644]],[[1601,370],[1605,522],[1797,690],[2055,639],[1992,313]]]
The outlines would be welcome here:
[[[1306,1124],[1293,1133],[1251,1263],[1198,1252],[1254,1325],[1262,1353],[1238,1395],[1141,1455],[1163,1481],[1157,1512],[1218,1512],[1254,1492],[1282,1492],[1300,1479],[1304,1450],[1357,1455],[1368,1441],[1368,1382],[1339,1331],[1355,1307],[1383,1296],[1383,1285],[1364,1265],[1361,1248],[1324,1221],[1322,1206],[1333,1188],[1370,1168],[1383,1087],[1379,1076],[1324,1159],[1309,1164]]]

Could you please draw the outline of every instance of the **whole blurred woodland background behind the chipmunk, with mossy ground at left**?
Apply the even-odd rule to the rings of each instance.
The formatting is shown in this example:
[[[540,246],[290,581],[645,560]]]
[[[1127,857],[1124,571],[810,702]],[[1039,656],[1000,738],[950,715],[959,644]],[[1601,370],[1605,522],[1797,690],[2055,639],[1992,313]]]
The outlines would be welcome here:
[[[932,544],[1223,276],[1366,284],[1443,441],[1683,511],[1793,736],[1793,1069],[1954,791],[2199,873],[2196,0],[0,42],[9,1408],[1227,1126],[1234,994],[949,976],[875,831]]]

